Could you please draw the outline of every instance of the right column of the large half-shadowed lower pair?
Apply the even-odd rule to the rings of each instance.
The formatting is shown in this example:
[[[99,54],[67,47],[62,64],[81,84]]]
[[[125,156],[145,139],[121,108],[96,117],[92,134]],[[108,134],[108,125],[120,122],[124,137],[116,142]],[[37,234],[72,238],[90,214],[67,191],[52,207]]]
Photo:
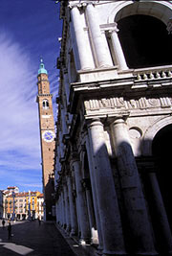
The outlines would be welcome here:
[[[112,128],[131,242],[138,255],[157,255],[126,123],[122,118],[118,118]]]

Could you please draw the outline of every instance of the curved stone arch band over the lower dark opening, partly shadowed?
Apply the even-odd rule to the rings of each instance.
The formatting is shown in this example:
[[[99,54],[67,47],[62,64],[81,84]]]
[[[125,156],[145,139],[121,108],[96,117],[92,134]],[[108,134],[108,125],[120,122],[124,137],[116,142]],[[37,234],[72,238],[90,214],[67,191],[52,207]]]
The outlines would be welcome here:
[[[156,134],[168,125],[172,124],[172,116],[164,117],[157,120],[153,125],[148,127],[142,138],[142,155],[152,155],[152,141]]]

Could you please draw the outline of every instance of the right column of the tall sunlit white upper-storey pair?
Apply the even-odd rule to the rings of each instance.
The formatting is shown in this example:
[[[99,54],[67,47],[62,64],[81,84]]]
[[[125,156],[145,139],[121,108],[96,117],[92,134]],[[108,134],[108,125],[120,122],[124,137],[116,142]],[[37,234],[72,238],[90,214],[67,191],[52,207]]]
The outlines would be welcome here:
[[[99,28],[99,18],[93,4],[86,7],[86,17],[89,25],[89,31],[92,38],[94,52],[97,60],[97,67],[113,66],[113,61],[107,43],[104,43],[103,35]]]

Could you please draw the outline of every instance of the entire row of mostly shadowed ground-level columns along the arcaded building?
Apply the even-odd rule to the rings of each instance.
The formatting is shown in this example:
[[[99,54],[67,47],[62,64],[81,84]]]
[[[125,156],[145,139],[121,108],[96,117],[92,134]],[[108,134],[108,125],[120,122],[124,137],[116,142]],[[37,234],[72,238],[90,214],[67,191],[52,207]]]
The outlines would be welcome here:
[[[143,196],[140,175],[130,145],[127,124],[123,118],[110,125],[118,160],[118,179],[124,211],[118,206],[114,176],[104,139],[104,127],[99,119],[87,124],[85,151],[89,178],[84,176],[83,152],[73,152],[70,170],[62,177],[57,200],[57,222],[71,235],[77,235],[81,244],[98,244],[102,255],[127,255],[125,226],[136,255],[158,255]],[[149,175],[155,207],[161,222],[161,232],[168,252],[172,237],[162,204],[161,192],[155,174]],[[137,243],[135,243],[137,241]]]

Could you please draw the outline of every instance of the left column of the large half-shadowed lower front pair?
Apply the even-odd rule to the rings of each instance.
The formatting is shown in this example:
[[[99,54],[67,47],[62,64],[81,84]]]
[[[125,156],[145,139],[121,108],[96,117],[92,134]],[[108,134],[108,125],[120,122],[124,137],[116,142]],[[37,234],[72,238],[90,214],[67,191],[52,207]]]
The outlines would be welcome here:
[[[118,198],[101,122],[88,125],[97,190],[97,205],[103,240],[103,255],[125,255]]]

